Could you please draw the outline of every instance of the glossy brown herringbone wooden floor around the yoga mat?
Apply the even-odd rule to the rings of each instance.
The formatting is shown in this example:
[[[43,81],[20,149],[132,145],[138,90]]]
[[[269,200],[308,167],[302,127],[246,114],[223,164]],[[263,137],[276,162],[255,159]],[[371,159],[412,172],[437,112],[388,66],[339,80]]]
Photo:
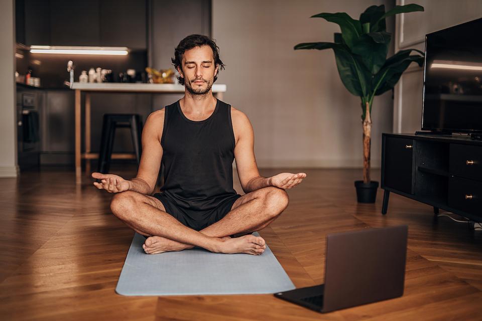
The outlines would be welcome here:
[[[132,167],[112,172],[135,176]],[[395,194],[382,216],[381,190],[376,204],[357,204],[361,170],[303,172],[304,182],[287,190],[289,207],[260,232],[295,285],[323,282],[327,233],[408,224],[402,297],[319,314],[272,295],[118,295],[133,232],[110,214],[112,194],[90,179],[76,186],[71,170],[45,169],[0,179],[0,319],[482,320],[482,231],[434,220],[431,207]]]

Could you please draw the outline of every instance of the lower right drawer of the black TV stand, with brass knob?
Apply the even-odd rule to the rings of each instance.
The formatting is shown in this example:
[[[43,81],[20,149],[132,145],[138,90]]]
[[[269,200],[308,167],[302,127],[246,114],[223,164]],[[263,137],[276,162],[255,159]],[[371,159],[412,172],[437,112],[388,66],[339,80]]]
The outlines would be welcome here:
[[[482,216],[482,182],[450,177],[448,206]]]

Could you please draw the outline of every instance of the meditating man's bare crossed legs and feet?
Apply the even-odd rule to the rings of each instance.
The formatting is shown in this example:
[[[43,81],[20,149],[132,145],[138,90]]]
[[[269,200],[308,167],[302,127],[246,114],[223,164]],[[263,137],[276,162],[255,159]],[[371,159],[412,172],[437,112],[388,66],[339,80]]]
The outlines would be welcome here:
[[[115,194],[110,209],[133,230],[148,237],[143,248],[149,254],[199,246],[211,252],[256,255],[264,252],[265,240],[244,234],[268,226],[288,207],[288,202],[288,194],[277,187],[250,192],[238,198],[221,220],[199,232],[166,213],[157,198],[141,193]],[[244,236],[230,238],[230,235]]]

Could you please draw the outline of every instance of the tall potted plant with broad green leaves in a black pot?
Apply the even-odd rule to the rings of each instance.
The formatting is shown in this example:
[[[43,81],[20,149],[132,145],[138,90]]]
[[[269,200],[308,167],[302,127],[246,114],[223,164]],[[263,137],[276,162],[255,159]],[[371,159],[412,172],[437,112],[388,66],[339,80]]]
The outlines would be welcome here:
[[[361,203],[374,203],[378,188],[378,182],[370,180],[373,98],[393,89],[410,63],[422,66],[424,60],[424,53],[416,49],[400,50],[387,59],[392,35],[386,30],[385,18],[414,11],[423,11],[423,7],[395,6],[386,13],[384,5],[371,6],[359,20],[346,13],[314,15],[311,18],[323,18],[339,25],[341,33],[334,34],[334,42],[301,43],[294,47],[295,50],[333,49],[341,82],[362,100],[363,181],[355,181],[357,200]],[[415,54],[411,55],[413,51]]]

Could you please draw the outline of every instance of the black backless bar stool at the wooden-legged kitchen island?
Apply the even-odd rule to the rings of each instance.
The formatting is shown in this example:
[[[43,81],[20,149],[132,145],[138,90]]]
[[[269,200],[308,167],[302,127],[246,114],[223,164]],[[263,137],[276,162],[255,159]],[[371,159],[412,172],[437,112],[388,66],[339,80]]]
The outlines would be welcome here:
[[[131,128],[132,144],[136,153],[137,164],[141,162],[142,153],[142,120],[139,114],[104,114],[102,122],[102,138],[100,141],[99,162],[97,171],[109,172],[112,147],[114,145],[115,128]]]

